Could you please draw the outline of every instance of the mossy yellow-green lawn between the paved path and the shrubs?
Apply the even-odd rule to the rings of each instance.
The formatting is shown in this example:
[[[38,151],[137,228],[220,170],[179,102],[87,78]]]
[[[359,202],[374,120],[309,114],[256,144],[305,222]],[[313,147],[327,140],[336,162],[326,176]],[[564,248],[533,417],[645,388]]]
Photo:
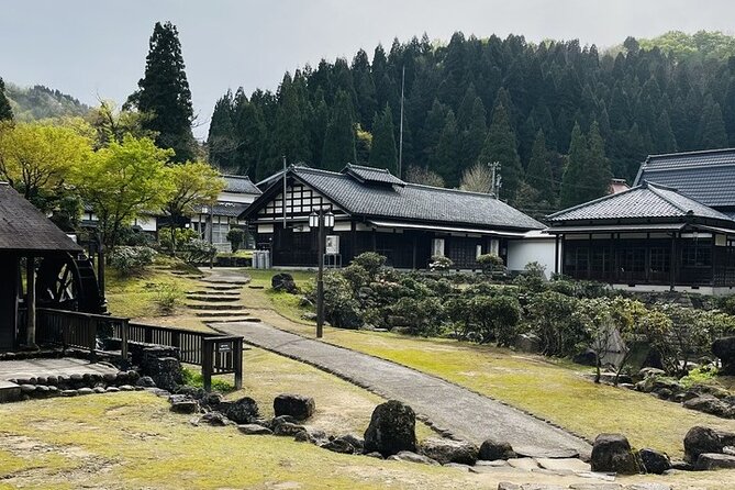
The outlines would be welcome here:
[[[261,290],[244,293],[245,302],[268,300]],[[271,301],[277,312],[281,304]],[[287,309],[283,315],[294,313]],[[294,323],[278,314],[261,316],[280,328],[304,335],[314,332],[313,324],[303,321]],[[686,410],[652,396],[595,386],[582,377],[584,368],[541,356],[456,341],[328,327],[324,338],[465,386],[590,439],[603,432],[621,432],[634,446],[681,456],[683,436],[693,425],[735,431],[735,421]]]

